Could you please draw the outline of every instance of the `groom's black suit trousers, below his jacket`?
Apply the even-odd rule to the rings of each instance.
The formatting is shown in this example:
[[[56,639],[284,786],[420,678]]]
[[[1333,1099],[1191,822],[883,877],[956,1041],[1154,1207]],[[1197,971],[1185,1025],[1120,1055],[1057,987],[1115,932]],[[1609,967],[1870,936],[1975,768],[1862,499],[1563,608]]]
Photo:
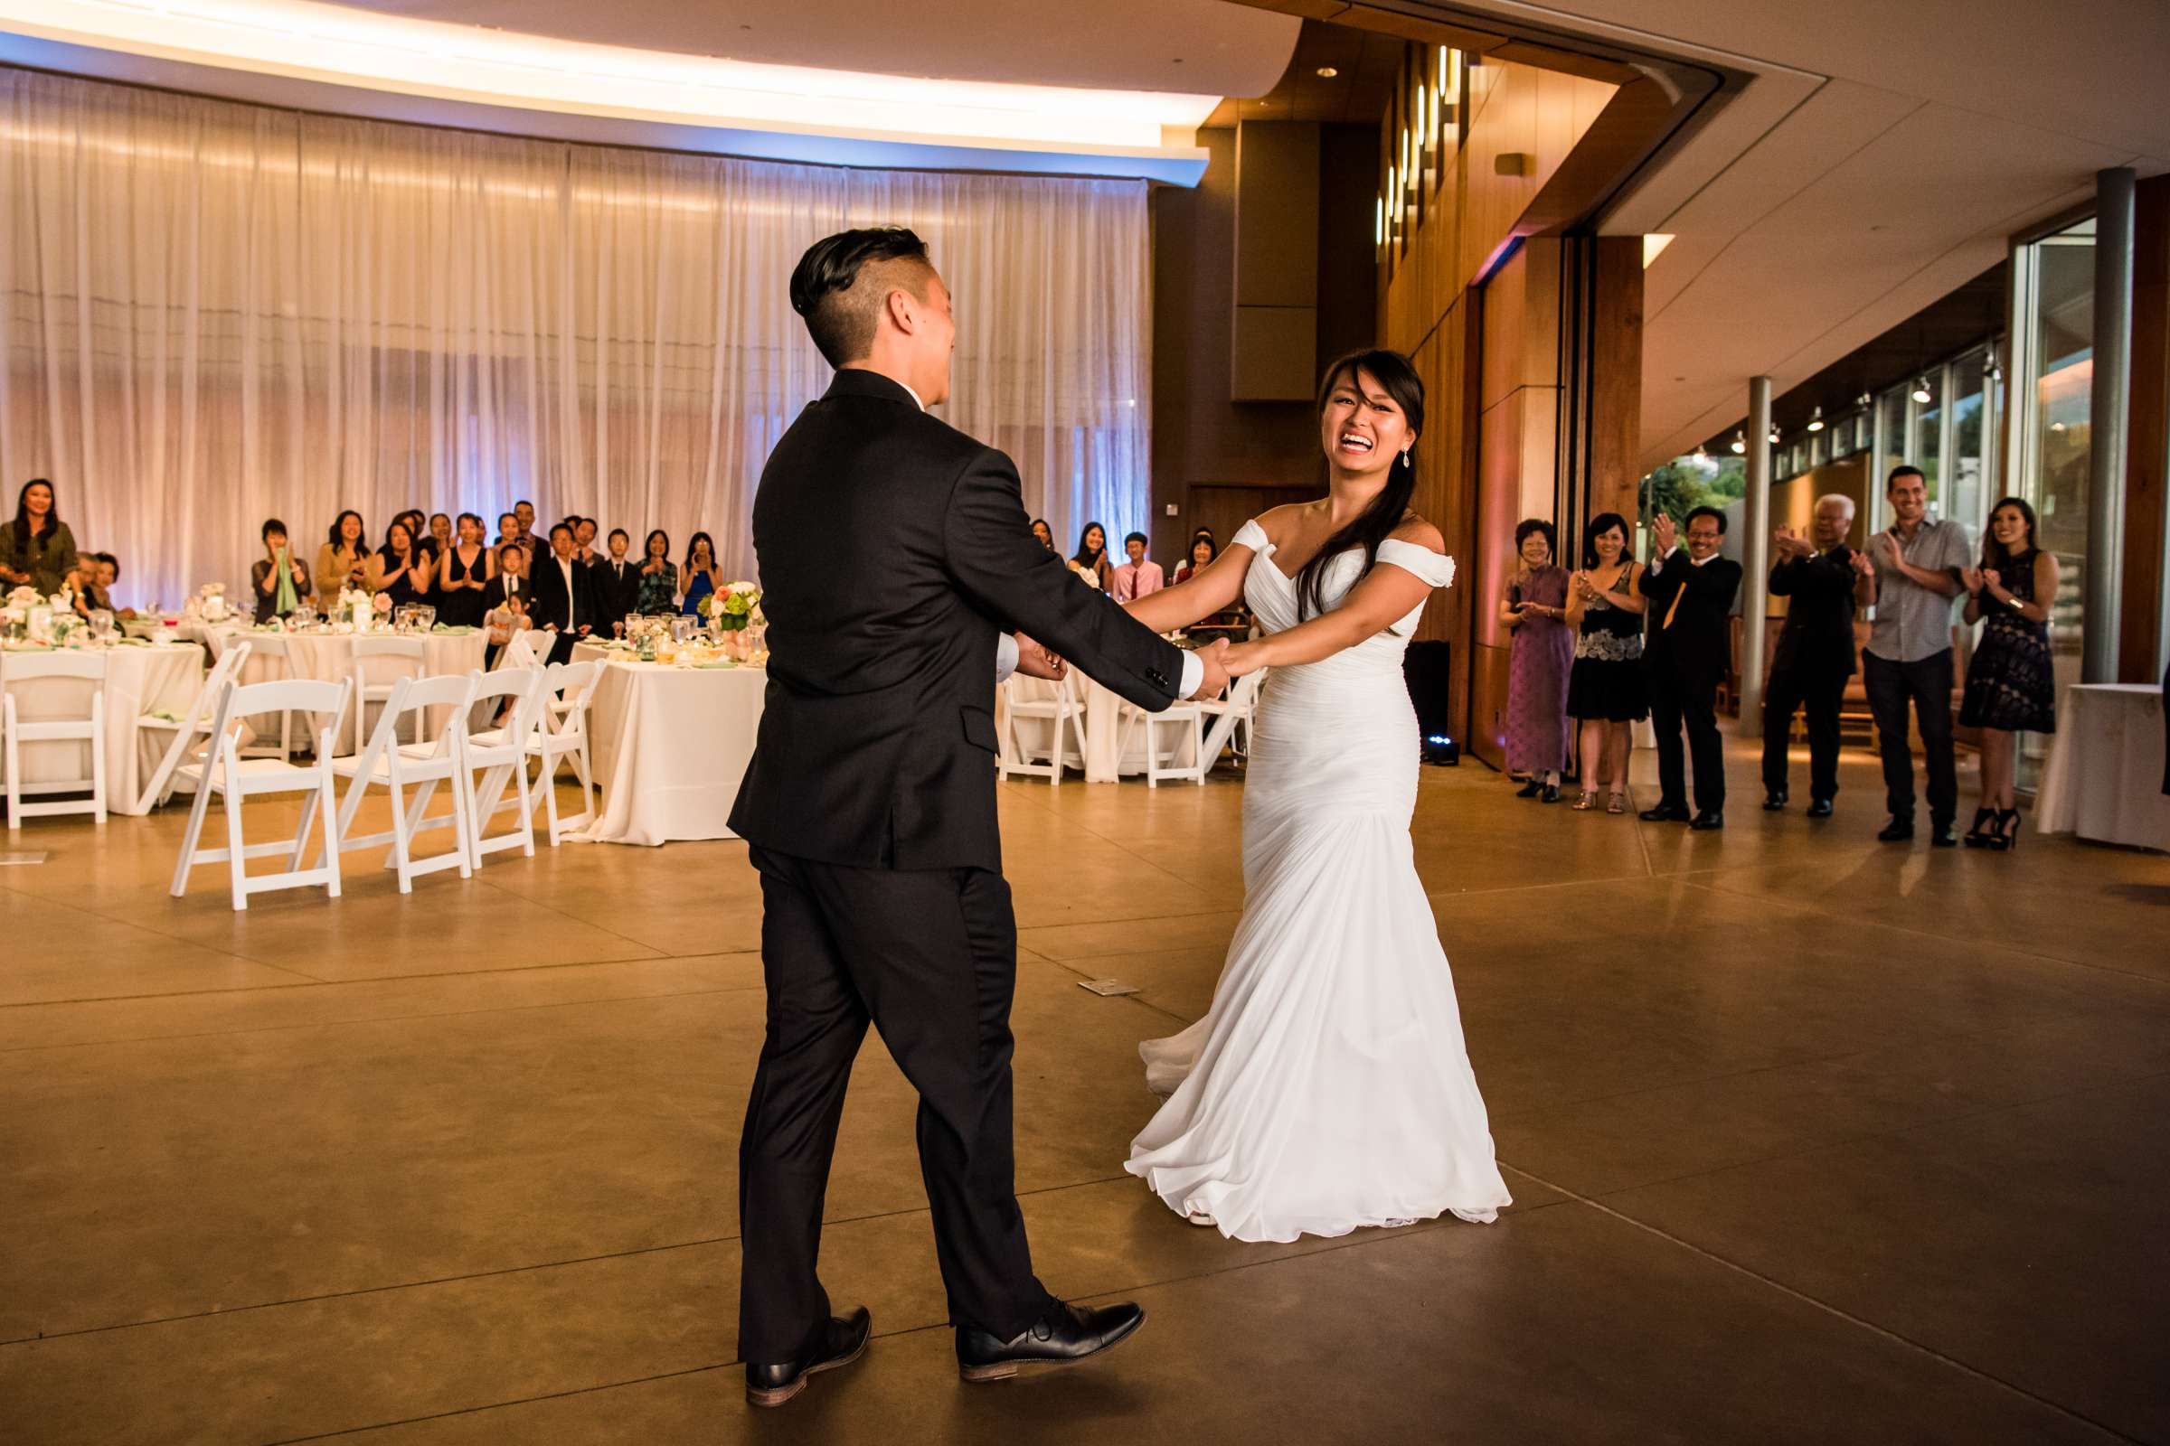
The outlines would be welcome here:
[[[1009,1140],[1009,885],[987,869],[751,856],[768,1036],[738,1142],[740,1359],[796,1359],[831,1314],[816,1275],[822,1197],[870,1021],[920,1093],[920,1175],[950,1322],[1022,1333],[1052,1299],[1033,1277]]]

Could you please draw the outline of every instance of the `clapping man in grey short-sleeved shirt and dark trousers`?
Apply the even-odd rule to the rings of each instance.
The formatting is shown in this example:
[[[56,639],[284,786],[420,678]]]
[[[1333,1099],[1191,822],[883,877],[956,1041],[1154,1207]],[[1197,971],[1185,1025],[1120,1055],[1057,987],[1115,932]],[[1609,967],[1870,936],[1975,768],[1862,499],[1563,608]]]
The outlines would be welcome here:
[[[1914,837],[1914,750],[1907,746],[1907,702],[1920,724],[1929,774],[1929,843],[1957,848],[1960,770],[1951,752],[1951,601],[1960,572],[1973,564],[1966,529],[1929,518],[1929,481],[1918,466],[1894,466],[1884,483],[1892,525],[1868,540],[1868,566],[1855,601],[1877,616],[1862,648],[1862,683],[1877,720],[1884,793],[1892,822],[1884,843]]]

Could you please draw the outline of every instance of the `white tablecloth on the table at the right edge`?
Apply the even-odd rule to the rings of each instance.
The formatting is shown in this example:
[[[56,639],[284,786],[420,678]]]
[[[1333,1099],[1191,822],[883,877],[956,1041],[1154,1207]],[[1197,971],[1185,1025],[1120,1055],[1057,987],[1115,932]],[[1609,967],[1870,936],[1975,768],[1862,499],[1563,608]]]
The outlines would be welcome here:
[[[2035,828],[2170,850],[2161,687],[2075,683],[2064,689]]]

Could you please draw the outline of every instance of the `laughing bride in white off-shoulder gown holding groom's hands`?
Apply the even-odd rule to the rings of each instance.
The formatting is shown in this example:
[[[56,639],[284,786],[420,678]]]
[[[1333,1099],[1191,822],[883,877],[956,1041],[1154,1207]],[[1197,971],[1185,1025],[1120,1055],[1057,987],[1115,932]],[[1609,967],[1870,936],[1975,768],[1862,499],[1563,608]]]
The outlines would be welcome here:
[[[1170,631],[1241,594],[1263,637],[1228,668],[1272,668],[1243,783],[1243,919],[1211,1012],[1139,1045],[1165,1103],[1124,1164],[1235,1240],[1493,1221],[1510,1203],[1408,837],[1402,653],[1454,579],[1406,509],[1424,384],[1363,351],[1328,369],[1319,412],[1330,494],[1246,522],[1200,574],[1131,605]]]

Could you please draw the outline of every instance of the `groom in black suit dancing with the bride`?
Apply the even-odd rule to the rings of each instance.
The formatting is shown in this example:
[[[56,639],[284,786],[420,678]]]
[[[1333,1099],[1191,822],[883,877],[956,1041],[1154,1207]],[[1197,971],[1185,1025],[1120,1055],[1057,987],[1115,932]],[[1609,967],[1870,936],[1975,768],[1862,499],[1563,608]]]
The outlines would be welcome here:
[[[816,243],[792,308],[838,373],[777,442],[753,503],[768,702],[731,828],[762,874],[768,984],[738,1147],[738,1346],[755,1405],[866,1346],[866,1309],[831,1318],[814,1262],[870,1021],[920,1093],[963,1379],[1074,1361],[1144,1320],[1137,1305],[1052,1299],[1024,1240],[994,683],[1020,657],[1042,676],[1072,659],[1148,711],[1226,683],[1222,644],[1185,655],[1078,588],[1033,538],[1009,457],[927,414],[948,399],[955,321],[918,236]]]

